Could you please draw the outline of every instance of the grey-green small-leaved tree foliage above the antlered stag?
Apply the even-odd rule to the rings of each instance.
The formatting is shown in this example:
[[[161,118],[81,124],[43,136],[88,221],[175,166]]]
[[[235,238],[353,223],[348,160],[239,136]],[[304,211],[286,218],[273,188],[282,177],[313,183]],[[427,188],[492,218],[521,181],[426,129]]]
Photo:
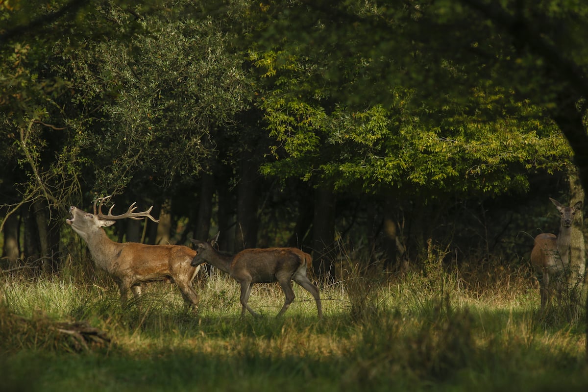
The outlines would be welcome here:
[[[132,18],[106,12],[121,31]],[[142,34],[128,41],[59,51],[82,113],[71,125],[86,136],[85,152],[99,157],[99,189],[123,189],[139,175],[197,174],[209,153],[203,140],[246,107],[245,75],[229,37],[212,19],[171,16],[146,16]]]

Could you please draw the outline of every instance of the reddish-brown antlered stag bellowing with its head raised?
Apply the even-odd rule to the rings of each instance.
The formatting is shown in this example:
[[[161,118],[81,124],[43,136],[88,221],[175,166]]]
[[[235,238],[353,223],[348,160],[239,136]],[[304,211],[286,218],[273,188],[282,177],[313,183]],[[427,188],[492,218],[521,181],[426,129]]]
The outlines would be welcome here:
[[[94,213],[84,212],[78,207],[69,207],[71,219],[65,222],[74,229],[88,244],[88,249],[96,267],[105,270],[118,284],[121,290],[122,305],[125,306],[129,290],[138,299],[141,296],[141,283],[172,281],[178,285],[186,305],[196,309],[199,297],[192,288],[192,280],[199,267],[192,267],[191,260],[196,256],[195,250],[181,245],[148,245],[136,242],[118,243],[108,238],[102,227],[112,226],[116,220],[151,216],[149,207],[145,212],[134,212],[136,203],[121,215],[112,215],[114,205],[108,214],[102,213],[102,203],[111,196],[100,197],[94,202]],[[96,211],[96,203],[98,211]]]

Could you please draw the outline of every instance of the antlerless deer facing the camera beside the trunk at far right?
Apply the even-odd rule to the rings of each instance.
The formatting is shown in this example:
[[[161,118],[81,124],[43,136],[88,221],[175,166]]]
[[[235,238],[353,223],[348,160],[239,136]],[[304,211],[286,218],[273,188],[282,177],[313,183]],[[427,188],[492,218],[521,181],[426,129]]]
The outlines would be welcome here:
[[[540,275],[539,293],[541,310],[550,306],[553,292],[559,300],[566,282],[566,270],[570,264],[570,243],[572,241],[572,223],[577,212],[582,210],[582,202],[573,207],[561,205],[552,199],[553,205],[560,213],[559,234],[542,233],[535,237],[531,252],[531,263]]]

